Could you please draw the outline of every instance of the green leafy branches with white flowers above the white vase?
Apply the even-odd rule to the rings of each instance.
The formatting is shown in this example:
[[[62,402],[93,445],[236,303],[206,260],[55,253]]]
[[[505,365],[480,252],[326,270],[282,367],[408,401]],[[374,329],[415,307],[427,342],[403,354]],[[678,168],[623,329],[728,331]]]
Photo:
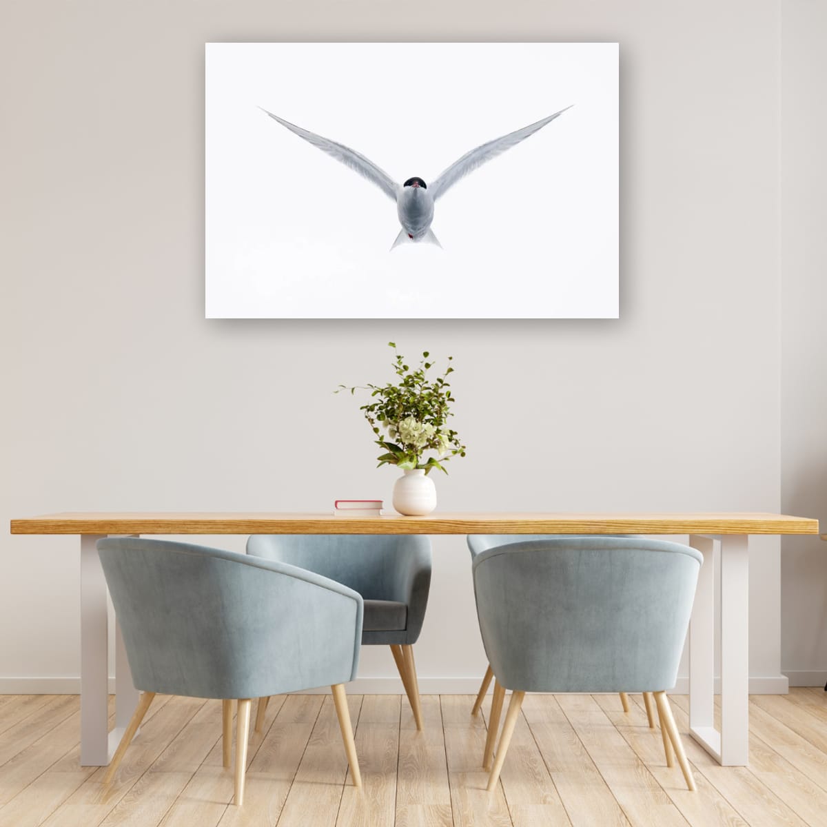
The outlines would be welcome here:
[[[348,388],[339,385],[340,390],[370,390],[375,401],[362,405],[365,418],[376,437],[376,444],[383,453],[377,459],[379,466],[395,465],[403,469],[421,468],[428,474],[433,468],[447,470],[443,462],[459,454],[465,457],[466,447],[452,428],[447,427],[447,419],[453,414],[448,404],[454,402],[451,385],[447,376],[453,373],[448,356],[448,366],[442,376],[428,380],[428,370],[433,362],[428,360],[428,351],[423,351],[422,359],[413,370],[405,362],[404,356],[396,351],[394,342],[388,342],[394,348],[393,368],[399,377],[397,384],[366,385],[361,388]],[[382,429],[386,435],[383,435]],[[423,458],[424,452],[434,451],[436,457]],[[379,467],[377,466],[377,467]]]

